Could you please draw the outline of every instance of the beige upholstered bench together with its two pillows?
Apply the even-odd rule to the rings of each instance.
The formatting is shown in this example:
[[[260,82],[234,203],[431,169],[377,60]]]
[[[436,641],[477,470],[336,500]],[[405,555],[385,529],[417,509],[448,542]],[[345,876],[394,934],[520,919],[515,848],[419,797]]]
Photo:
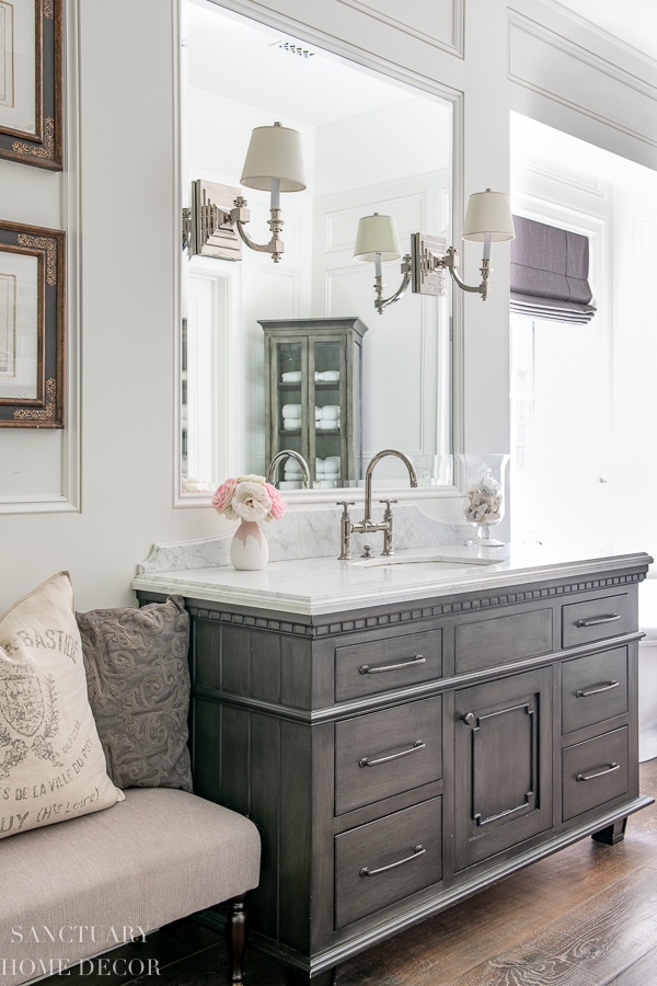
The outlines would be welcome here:
[[[224,901],[242,981],[260,836],[192,793],[188,642],[182,598],[76,614],[66,572],[0,617],[3,986]]]

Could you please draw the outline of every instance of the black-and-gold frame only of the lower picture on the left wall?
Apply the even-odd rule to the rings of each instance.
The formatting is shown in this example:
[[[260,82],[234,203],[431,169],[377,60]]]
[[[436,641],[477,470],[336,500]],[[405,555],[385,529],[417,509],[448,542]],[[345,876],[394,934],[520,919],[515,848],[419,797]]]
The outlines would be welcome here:
[[[66,233],[0,220],[0,272],[4,254],[37,260],[36,395],[0,397],[0,428],[64,428]]]

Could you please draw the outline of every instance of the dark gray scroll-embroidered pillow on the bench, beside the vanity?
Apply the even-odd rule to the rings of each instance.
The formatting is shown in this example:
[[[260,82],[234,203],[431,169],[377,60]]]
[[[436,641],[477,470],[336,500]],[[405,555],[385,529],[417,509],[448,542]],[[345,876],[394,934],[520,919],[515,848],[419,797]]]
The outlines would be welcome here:
[[[119,788],[192,791],[189,617],[183,597],[76,617],[110,777]]]

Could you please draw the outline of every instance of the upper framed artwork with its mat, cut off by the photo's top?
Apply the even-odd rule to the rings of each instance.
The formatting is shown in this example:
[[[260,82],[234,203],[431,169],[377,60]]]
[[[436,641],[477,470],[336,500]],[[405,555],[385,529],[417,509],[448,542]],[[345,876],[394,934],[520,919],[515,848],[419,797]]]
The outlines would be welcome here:
[[[64,0],[0,0],[0,158],[61,171]]]

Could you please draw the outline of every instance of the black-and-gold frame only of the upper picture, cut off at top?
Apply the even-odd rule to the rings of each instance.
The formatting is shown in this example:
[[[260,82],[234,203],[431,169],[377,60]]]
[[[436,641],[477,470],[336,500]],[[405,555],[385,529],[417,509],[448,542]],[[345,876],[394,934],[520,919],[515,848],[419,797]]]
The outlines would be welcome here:
[[[64,168],[64,0],[34,0],[35,130],[0,126],[0,158]]]

